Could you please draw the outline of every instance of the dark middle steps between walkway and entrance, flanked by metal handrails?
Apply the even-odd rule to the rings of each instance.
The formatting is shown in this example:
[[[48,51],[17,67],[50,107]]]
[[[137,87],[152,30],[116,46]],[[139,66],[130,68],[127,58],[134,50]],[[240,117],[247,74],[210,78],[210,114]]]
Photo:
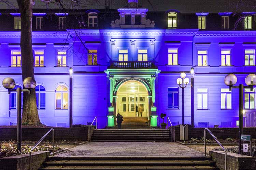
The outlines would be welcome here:
[[[171,141],[166,129],[98,129],[94,130],[92,142],[146,142]]]

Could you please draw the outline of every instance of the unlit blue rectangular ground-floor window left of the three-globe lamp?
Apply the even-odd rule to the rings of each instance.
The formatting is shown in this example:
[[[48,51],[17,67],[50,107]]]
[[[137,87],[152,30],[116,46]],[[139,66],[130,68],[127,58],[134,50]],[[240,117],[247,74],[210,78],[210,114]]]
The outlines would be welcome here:
[[[179,108],[179,87],[168,88],[168,108],[169,109]]]

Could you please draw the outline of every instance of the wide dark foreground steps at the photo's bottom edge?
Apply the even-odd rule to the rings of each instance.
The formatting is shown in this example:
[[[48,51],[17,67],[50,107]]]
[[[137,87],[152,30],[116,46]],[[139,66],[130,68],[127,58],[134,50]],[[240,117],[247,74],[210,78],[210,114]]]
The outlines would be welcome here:
[[[81,156],[48,157],[39,170],[70,169],[149,169],[219,170],[209,156]]]

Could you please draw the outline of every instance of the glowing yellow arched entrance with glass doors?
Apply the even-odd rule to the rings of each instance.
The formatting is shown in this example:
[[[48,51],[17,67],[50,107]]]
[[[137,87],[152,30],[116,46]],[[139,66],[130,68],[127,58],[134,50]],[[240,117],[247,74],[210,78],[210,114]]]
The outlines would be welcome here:
[[[124,117],[148,117],[148,90],[143,83],[126,81],[118,87],[116,96],[116,113]]]

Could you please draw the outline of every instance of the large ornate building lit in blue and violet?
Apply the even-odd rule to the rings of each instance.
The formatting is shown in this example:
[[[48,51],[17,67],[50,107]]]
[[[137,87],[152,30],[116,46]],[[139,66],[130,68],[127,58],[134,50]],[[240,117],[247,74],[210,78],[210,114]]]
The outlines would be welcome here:
[[[173,124],[182,123],[182,89],[176,80],[185,72],[184,123],[235,127],[239,91],[229,91],[224,77],[234,73],[245,84],[245,77],[256,72],[254,13],[244,13],[232,30],[237,19],[232,13],[169,10],[154,15],[134,3],[112,10],[105,20],[100,20],[104,11],[84,10],[86,19],[72,23],[68,18],[75,13],[35,10],[32,43],[41,122],[68,127],[71,112],[73,124],[87,124],[97,116],[99,128],[117,113],[158,116],[158,125],[164,113]],[[20,16],[5,11],[0,20],[0,81],[12,77],[23,87]],[[16,94],[8,95],[2,84],[0,103],[0,124],[16,122]],[[255,89],[244,91],[244,111],[245,122],[255,124]]]

